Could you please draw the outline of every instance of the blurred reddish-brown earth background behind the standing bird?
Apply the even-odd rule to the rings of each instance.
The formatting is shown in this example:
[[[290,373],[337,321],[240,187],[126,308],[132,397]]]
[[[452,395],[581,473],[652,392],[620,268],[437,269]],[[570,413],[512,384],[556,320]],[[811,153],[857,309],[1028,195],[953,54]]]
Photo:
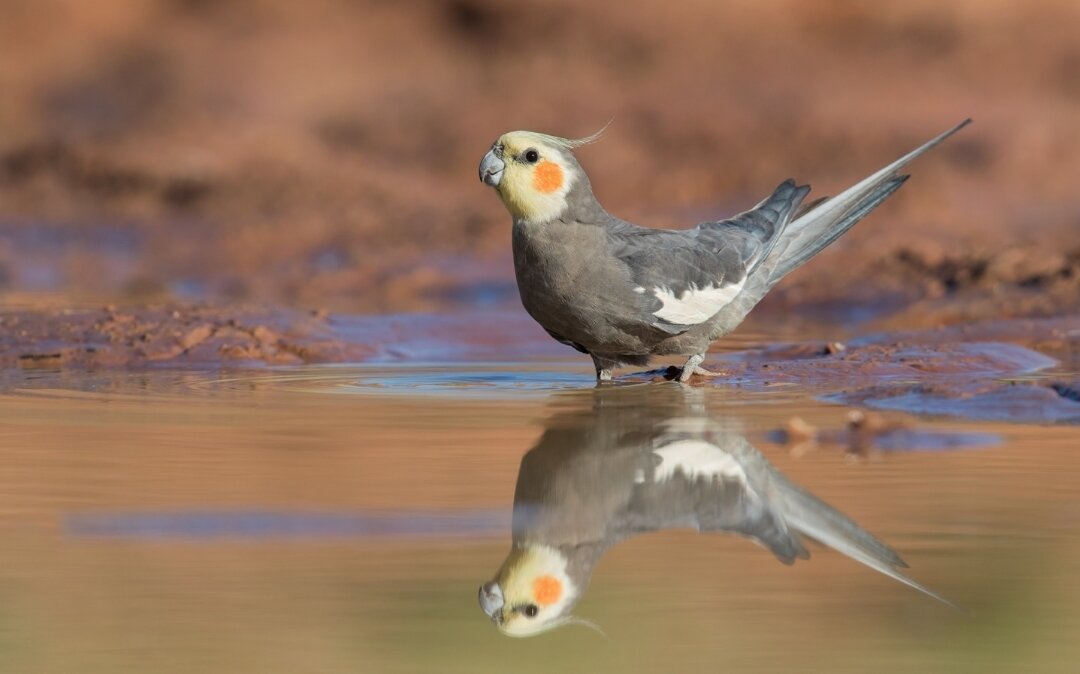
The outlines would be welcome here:
[[[1080,297],[1075,0],[3,0],[2,15],[9,307],[516,306],[481,156],[509,130],[612,118],[579,152],[602,202],[686,227],[789,176],[836,193],[973,117],[766,311],[947,322]]]

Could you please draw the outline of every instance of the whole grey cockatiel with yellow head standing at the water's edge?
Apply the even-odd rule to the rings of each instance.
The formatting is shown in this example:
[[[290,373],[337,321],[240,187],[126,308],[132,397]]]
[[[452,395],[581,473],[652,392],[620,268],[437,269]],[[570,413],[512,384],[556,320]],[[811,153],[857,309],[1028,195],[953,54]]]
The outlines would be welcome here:
[[[686,230],[640,227],[600,205],[573,152],[604,130],[578,139],[505,133],[481,160],[480,179],[510,212],[522,304],[549,335],[589,354],[598,382],[661,355],[686,358],[686,382],[720,374],[701,366],[710,345],[895,192],[905,165],[970,122],[836,197],[800,210],[810,187],[787,179],[750,211]]]

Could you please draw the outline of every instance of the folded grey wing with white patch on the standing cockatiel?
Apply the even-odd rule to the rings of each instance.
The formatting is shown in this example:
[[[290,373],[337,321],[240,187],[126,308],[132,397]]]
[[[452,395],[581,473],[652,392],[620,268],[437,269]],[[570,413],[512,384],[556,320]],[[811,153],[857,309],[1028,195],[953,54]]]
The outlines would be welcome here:
[[[633,229],[612,234],[615,256],[638,295],[637,320],[679,334],[716,315],[779,240],[808,187],[782,183],[759,204],[688,231]]]

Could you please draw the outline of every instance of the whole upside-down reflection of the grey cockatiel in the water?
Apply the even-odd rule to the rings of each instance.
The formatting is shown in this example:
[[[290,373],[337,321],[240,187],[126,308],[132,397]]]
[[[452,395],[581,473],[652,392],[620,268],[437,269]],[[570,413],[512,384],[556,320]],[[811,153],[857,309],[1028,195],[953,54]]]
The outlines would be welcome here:
[[[815,540],[948,603],[902,575],[907,566],[846,515],[789,482],[739,433],[711,418],[700,390],[602,388],[592,404],[545,422],[522,459],[512,547],[480,604],[511,636],[573,622],[599,558],[637,534],[672,528],[742,536],[784,564]],[[580,401],[580,393],[565,396]]]

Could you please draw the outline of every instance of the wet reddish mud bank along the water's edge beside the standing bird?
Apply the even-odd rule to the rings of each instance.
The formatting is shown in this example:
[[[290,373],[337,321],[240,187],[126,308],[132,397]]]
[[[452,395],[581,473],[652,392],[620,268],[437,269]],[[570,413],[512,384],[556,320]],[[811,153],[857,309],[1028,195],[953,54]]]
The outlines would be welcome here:
[[[243,308],[106,307],[9,313],[0,318],[0,364],[24,372],[351,363],[396,368],[359,379],[347,372],[343,376],[355,379],[351,386],[360,387],[356,390],[367,381],[383,394],[400,389],[409,394],[456,390],[496,396],[536,387],[588,388],[593,382],[589,364],[544,335],[523,311],[342,316]],[[694,378],[693,386],[781,395],[799,391],[843,405],[916,415],[1080,421],[1080,319],[875,333],[843,342],[746,345],[737,334],[716,348],[706,364],[723,374]],[[517,370],[489,367],[500,362],[515,363]],[[663,381],[673,372],[674,365],[627,370],[616,386]]]

